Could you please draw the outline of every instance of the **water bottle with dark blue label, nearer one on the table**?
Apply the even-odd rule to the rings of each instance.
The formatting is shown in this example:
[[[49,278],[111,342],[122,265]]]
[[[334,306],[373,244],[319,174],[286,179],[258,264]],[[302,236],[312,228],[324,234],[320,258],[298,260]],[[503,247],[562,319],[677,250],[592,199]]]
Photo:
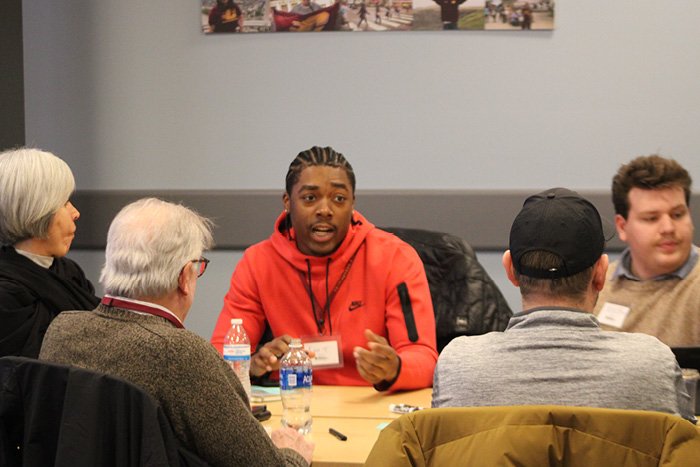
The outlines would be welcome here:
[[[289,351],[280,361],[282,425],[299,433],[311,431],[311,359],[301,348],[301,339],[292,339]]]

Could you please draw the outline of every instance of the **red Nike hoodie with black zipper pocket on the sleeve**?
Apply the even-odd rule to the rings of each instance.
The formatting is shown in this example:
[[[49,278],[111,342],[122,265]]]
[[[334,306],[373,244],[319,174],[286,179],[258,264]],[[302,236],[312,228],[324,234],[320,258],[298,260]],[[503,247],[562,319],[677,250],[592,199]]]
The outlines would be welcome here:
[[[430,387],[437,361],[435,317],[423,263],[415,250],[355,211],[348,233],[335,252],[307,256],[297,249],[294,230],[284,227],[285,216],[282,213],[278,217],[270,238],[245,251],[233,272],[212,335],[219,352],[231,318],[243,319],[252,349],[265,331],[266,322],[274,336],[289,334],[302,341],[305,336],[340,336],[343,367],[315,369],[314,383],[369,385],[358,373],[352,351],[356,346],[367,348],[364,330],[371,329],[385,337],[401,358],[401,370],[391,391]],[[346,270],[345,279],[333,295]],[[318,303],[318,319],[311,306],[309,281]],[[397,291],[402,283],[406,284],[413,309],[415,342],[409,339]],[[332,299],[320,324],[327,293]]]

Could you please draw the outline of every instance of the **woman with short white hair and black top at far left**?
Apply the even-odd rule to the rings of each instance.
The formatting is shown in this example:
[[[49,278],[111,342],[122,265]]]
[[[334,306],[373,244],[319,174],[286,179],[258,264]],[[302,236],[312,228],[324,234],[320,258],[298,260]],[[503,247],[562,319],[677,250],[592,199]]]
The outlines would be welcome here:
[[[73,173],[38,149],[0,153],[0,356],[37,357],[51,320],[92,310],[95,288],[65,258],[80,217]]]

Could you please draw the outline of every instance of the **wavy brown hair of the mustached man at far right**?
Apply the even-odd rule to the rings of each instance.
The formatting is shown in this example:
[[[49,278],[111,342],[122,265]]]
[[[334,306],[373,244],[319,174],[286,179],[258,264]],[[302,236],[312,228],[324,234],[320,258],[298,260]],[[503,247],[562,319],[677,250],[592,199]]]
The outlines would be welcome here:
[[[680,187],[685,193],[685,202],[690,206],[690,186],[693,183],[688,171],[673,159],[653,154],[640,156],[620,166],[613,177],[612,199],[615,214],[625,219],[629,214],[629,192],[632,188],[656,190]]]

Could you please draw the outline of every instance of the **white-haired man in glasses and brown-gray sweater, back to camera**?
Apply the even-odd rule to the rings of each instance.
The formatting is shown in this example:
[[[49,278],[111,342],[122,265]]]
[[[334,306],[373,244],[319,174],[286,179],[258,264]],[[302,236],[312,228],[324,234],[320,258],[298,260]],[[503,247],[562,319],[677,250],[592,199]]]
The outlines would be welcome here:
[[[140,386],[160,401],[180,442],[211,465],[307,465],[313,445],[291,429],[271,441],[221,356],[184,329],[211,244],[210,222],[184,206],[129,204],[109,228],[102,303],[61,313],[39,358]]]

